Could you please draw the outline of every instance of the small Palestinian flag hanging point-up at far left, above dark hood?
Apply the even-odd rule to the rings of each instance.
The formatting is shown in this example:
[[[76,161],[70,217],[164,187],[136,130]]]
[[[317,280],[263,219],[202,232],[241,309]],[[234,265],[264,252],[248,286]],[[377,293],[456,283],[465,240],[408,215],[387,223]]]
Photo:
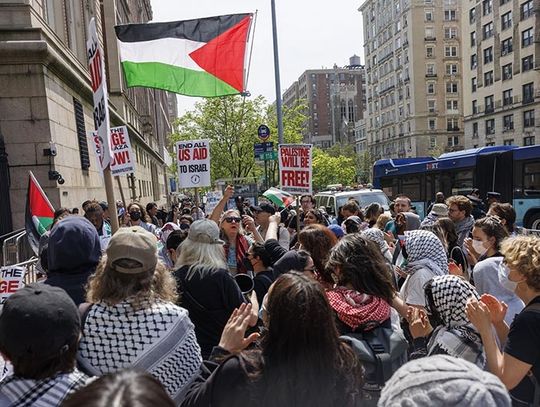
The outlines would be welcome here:
[[[30,172],[28,179],[28,193],[26,195],[26,236],[30,246],[37,254],[39,238],[49,229],[54,217],[54,208],[47,195]]]

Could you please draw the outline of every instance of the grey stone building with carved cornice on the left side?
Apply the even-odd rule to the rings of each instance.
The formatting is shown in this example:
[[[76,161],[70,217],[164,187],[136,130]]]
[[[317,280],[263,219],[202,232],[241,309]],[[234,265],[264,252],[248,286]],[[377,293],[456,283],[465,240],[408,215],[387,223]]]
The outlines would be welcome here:
[[[91,17],[105,51],[111,126],[128,127],[137,161],[136,174],[114,183],[116,197],[166,202],[165,144],[176,98],[125,88],[113,29],[150,21],[150,0],[11,0],[0,2],[0,156],[2,174],[8,174],[0,182],[9,185],[0,195],[0,207],[9,208],[0,216],[0,231],[24,223],[28,170],[56,208],[105,199],[86,134],[94,129],[86,57]]]

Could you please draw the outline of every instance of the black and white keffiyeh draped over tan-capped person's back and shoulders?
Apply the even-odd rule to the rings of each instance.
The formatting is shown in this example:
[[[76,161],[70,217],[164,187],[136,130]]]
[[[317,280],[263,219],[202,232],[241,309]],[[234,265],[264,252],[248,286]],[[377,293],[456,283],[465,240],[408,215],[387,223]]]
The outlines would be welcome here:
[[[180,404],[202,363],[188,312],[172,303],[147,300],[92,304],[77,356],[81,368],[103,375],[133,367],[155,376]]]

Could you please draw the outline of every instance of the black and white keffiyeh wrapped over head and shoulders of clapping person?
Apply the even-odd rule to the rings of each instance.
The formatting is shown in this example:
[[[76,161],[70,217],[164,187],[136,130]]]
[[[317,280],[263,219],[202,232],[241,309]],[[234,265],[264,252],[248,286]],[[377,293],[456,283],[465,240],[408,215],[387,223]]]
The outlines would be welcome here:
[[[480,334],[469,322],[465,306],[469,298],[480,299],[476,289],[454,275],[434,277],[431,281],[433,305],[443,322],[428,343],[428,356],[438,345],[449,355],[468,360],[483,368],[485,354]]]

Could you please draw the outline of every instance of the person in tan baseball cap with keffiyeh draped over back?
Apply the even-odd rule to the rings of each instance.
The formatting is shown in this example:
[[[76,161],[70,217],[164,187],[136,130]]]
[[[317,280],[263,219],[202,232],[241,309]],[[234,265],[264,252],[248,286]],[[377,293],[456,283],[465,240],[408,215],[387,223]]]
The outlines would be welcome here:
[[[193,324],[176,300],[174,278],[158,262],[155,236],[138,226],[121,228],[89,280],[88,303],[81,306],[77,358],[83,371],[148,371],[179,405],[202,358]]]

